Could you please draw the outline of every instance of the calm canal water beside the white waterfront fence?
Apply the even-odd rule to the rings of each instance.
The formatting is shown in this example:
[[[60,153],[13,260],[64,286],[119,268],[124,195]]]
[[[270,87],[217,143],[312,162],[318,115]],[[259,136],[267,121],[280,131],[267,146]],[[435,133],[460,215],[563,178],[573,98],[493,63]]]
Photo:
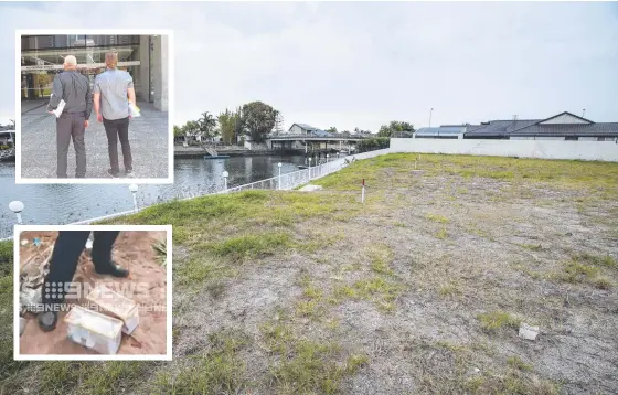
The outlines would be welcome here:
[[[139,185],[140,206],[163,202],[189,193],[216,192],[224,188],[222,173],[227,171],[228,188],[297,171],[303,156],[255,156],[226,159],[175,159],[174,183]],[[9,202],[25,205],[24,225],[55,225],[89,220],[132,209],[128,185],[15,184],[15,164],[0,162],[0,237],[12,235],[15,215]]]

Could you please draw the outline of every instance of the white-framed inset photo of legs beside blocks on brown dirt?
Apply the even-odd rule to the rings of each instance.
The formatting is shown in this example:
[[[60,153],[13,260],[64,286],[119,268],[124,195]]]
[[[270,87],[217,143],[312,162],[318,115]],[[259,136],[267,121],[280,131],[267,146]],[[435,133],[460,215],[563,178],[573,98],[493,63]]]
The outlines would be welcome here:
[[[17,225],[15,361],[171,361],[171,225]]]

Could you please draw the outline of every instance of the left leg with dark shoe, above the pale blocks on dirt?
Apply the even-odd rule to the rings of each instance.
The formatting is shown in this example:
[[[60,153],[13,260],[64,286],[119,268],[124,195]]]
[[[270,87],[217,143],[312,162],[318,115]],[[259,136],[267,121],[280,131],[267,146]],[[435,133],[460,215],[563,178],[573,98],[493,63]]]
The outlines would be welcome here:
[[[42,302],[44,310],[39,314],[39,325],[44,331],[54,330],[57,323],[60,303],[64,301],[68,284],[77,269],[77,261],[89,231],[61,231],[54,243],[50,273],[43,282]]]

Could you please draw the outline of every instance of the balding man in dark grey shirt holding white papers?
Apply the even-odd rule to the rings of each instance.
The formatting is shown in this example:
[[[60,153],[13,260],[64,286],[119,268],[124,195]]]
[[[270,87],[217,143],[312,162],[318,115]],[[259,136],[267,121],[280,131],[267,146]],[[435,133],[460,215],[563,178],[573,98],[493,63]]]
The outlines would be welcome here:
[[[68,146],[73,139],[75,148],[75,178],[86,177],[86,145],[84,134],[88,127],[88,119],[93,110],[93,96],[88,78],[77,71],[77,60],[73,55],[64,58],[64,72],[54,78],[52,95],[47,111],[56,109],[60,102],[64,100],[65,106],[60,117],[56,118],[56,147],[57,147],[57,168],[56,175],[65,179],[66,157]],[[51,110],[50,110],[51,109]]]

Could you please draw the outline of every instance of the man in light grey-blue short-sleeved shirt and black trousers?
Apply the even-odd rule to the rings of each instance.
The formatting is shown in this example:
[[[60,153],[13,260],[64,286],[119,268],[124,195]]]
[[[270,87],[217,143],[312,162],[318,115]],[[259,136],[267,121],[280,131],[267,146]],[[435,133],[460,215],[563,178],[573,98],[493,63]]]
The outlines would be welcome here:
[[[131,146],[129,145],[129,115],[130,103],[136,103],[134,78],[125,71],[118,70],[118,55],[105,55],[107,70],[97,75],[95,79],[95,111],[97,120],[103,121],[107,134],[107,150],[109,152],[110,169],[107,173],[117,178],[120,174],[118,167],[118,139],[122,148],[125,174],[132,177]]]

